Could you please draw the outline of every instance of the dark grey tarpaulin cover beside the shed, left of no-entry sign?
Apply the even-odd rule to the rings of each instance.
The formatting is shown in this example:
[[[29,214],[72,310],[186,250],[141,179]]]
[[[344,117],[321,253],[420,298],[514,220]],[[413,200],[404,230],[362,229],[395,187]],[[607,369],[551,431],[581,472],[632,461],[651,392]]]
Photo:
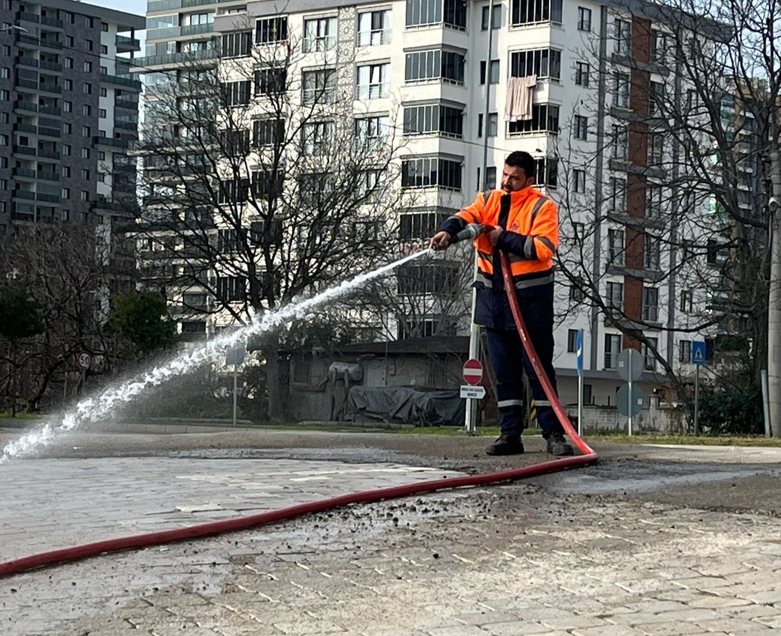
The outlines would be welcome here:
[[[463,426],[464,400],[458,391],[414,391],[406,387],[351,387],[348,416],[435,426]]]

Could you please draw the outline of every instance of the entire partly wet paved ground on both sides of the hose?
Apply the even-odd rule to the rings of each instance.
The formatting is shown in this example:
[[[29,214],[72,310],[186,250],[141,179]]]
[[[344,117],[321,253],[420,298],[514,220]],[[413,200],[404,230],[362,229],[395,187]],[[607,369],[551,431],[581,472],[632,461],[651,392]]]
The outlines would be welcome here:
[[[538,439],[509,459],[486,442],[74,437],[0,466],[16,528],[0,555],[547,459]],[[581,470],[0,579],[0,634],[781,634],[781,449],[598,450]]]

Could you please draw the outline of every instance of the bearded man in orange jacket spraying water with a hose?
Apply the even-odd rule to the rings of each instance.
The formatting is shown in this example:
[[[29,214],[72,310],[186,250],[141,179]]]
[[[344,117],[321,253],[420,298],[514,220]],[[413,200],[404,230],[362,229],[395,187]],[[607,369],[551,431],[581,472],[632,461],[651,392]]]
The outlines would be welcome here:
[[[501,436],[486,448],[489,455],[523,452],[524,401],[522,373],[526,370],[537,407],[537,420],[555,456],[572,455],[551,402],[523,351],[505,292],[499,253],[510,261],[515,294],[529,338],[553,387],[553,257],[558,248],[558,211],[551,199],[533,188],[536,164],[528,152],[512,152],[505,160],[501,190],[481,192],[475,202],[445,220],[431,238],[444,249],[469,223],[490,226],[475,241],[477,290],[475,322],[486,328],[488,355],[497,378]]]

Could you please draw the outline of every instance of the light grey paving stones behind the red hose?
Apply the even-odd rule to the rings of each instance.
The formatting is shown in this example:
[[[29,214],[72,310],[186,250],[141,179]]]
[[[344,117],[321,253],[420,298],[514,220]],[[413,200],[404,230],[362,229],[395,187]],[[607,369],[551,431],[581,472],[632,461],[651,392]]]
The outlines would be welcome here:
[[[20,460],[0,466],[0,560],[458,474],[300,459]]]

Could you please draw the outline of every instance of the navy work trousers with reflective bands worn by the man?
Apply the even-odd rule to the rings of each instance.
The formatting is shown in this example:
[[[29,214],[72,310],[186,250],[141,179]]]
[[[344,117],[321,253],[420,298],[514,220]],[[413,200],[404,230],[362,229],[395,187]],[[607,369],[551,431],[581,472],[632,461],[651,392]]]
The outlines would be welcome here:
[[[551,285],[552,287],[552,285]],[[505,298],[506,302],[506,298]],[[529,295],[519,298],[521,315],[526,323],[529,338],[537,351],[540,363],[556,390],[556,376],[553,369],[553,298],[552,294]],[[497,380],[497,402],[502,434],[519,436],[523,431],[526,409],[523,400],[522,373],[526,371],[537,409],[537,421],[543,437],[564,433],[562,424],[551,408],[551,402],[543,391],[537,373],[529,356],[523,350],[518,331],[487,328],[488,355]]]

